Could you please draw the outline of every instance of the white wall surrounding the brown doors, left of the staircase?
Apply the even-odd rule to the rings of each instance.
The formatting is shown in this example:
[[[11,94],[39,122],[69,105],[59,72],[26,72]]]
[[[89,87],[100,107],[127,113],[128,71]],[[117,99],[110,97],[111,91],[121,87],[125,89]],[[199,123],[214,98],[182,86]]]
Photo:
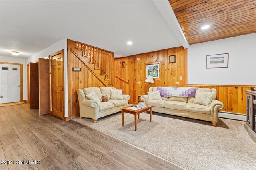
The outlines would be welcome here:
[[[52,53],[64,49],[64,97],[65,97],[65,117],[68,116],[68,55],[67,55],[67,39],[64,38],[57,43],[47,47],[46,49],[32,55],[31,57],[26,58],[25,63],[35,62],[38,58],[44,58]],[[27,77],[26,77],[27,82]],[[26,87],[27,88],[27,87]],[[27,92],[26,92],[27,93]]]

